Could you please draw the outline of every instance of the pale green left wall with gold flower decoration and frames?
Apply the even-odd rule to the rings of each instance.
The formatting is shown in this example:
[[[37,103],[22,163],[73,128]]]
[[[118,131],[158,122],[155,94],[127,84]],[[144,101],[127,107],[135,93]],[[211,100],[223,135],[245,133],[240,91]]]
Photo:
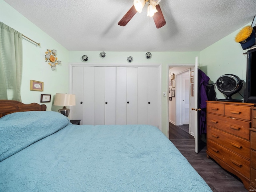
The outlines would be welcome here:
[[[47,110],[57,111],[60,106],[52,106],[54,95],[68,92],[68,50],[3,0],[0,0],[0,21],[41,44],[41,46],[36,46],[26,39],[22,40],[22,102],[25,104],[40,103],[41,94],[51,94],[51,102],[42,104],[46,104]],[[62,61],[55,71],[52,71],[45,62],[44,55],[47,49],[57,50],[58,60]],[[30,80],[44,82],[44,91],[30,91]]]

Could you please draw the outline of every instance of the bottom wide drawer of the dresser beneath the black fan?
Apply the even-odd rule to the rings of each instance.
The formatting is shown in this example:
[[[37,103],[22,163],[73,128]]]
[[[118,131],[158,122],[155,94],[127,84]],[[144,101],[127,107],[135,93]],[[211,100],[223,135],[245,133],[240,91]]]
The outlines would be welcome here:
[[[233,169],[243,174],[245,177],[250,178],[250,161],[238,156],[211,140],[207,140],[207,150]]]

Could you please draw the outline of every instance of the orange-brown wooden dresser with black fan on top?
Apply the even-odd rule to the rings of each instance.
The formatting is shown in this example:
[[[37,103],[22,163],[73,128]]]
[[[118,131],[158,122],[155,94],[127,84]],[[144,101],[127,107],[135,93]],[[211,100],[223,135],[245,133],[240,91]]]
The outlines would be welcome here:
[[[207,158],[250,185],[250,128],[255,104],[207,101]]]

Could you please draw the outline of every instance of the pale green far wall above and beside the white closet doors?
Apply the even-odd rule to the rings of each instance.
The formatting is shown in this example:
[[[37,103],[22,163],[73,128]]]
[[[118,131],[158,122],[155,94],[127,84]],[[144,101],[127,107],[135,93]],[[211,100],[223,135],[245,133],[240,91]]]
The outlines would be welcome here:
[[[97,51],[70,51],[70,63],[82,63],[83,55],[88,56],[86,64],[122,64],[130,65],[127,57],[132,56],[132,65],[143,66],[147,64],[162,64],[162,92],[168,92],[168,71],[169,66],[189,66],[195,64],[195,57],[200,56],[200,52],[151,52],[152,58],[146,59],[146,52],[106,52],[106,57],[101,58],[100,52]],[[162,132],[168,136],[169,134],[169,118],[168,118],[168,102],[169,97],[162,95]]]

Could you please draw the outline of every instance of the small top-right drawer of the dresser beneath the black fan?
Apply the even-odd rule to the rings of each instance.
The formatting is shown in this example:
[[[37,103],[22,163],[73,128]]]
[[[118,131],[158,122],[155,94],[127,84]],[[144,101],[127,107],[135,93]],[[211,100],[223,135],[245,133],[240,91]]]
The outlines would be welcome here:
[[[224,115],[244,120],[251,120],[251,108],[246,106],[225,105]]]

